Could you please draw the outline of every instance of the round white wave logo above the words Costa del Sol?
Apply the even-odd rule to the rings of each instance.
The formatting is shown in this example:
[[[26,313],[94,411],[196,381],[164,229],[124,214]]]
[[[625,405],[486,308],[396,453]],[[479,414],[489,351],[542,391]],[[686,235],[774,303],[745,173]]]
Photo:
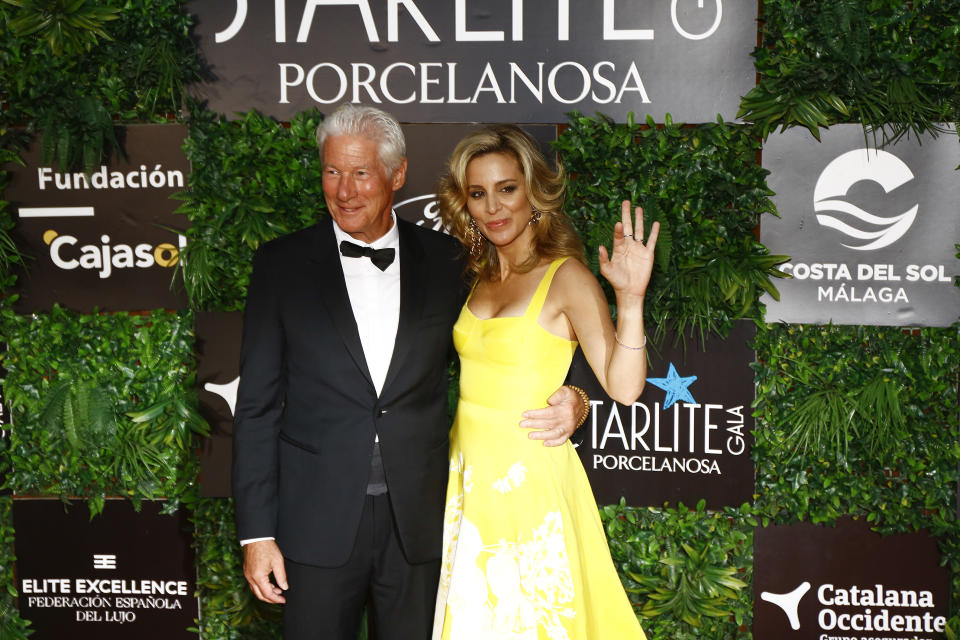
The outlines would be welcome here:
[[[835,229],[850,238],[848,249],[870,251],[889,246],[903,237],[917,217],[915,204],[907,211],[889,218],[873,215],[860,207],[843,200],[847,192],[861,180],[878,183],[885,193],[913,180],[903,160],[882,149],[854,149],[837,157],[826,166],[813,191],[813,209],[817,222]],[[853,217],[857,224],[848,224],[830,213],[843,213]],[[862,241],[862,244],[854,242]]]

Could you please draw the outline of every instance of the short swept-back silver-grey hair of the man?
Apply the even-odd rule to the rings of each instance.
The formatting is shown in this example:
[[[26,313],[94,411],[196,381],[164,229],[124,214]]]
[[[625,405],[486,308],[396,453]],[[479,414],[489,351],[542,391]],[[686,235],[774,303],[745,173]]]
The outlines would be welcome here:
[[[323,143],[330,136],[359,136],[377,143],[377,156],[393,175],[407,155],[407,143],[400,123],[386,111],[358,104],[342,104],[317,127],[317,148],[323,157]]]

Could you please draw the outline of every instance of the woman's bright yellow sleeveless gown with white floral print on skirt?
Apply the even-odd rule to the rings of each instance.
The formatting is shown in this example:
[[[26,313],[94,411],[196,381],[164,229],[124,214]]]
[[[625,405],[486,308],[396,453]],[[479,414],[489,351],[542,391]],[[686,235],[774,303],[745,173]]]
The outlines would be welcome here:
[[[538,322],[562,263],[523,316],[477,318],[468,300],[453,328],[460,401],[435,639],[645,638],[573,446],[545,447],[518,426],[563,384],[577,347]]]

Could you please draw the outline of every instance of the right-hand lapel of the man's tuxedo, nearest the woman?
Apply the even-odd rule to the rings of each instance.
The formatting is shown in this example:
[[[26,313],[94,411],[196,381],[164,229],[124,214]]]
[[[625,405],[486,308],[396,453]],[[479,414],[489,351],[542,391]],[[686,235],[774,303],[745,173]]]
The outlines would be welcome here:
[[[423,283],[427,265],[423,247],[412,224],[398,219],[397,230],[400,234],[400,319],[381,396],[390,388],[390,384],[403,369],[404,361],[416,346],[423,313],[423,297],[426,295]]]

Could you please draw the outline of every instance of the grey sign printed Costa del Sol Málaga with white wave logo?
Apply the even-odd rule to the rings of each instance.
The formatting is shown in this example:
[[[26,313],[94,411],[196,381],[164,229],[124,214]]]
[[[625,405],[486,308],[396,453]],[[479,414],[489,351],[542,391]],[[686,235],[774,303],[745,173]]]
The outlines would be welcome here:
[[[781,218],[760,239],[792,256],[766,296],[768,322],[949,326],[960,316],[960,147],[954,136],[864,145],[859,125],[818,143],[807,131],[772,134],[763,165]]]

